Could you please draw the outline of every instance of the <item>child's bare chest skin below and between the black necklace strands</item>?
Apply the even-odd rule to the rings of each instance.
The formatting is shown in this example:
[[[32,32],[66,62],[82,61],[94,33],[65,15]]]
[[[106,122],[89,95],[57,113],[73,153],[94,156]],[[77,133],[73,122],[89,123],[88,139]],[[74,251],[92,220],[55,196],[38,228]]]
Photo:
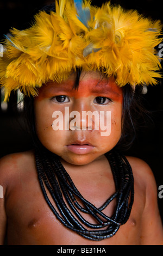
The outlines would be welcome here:
[[[27,181],[27,180],[26,180]],[[25,179],[18,183],[8,200],[8,243],[13,245],[116,245],[139,243],[140,219],[135,210],[129,221],[120,227],[116,235],[102,240],[93,241],[85,239],[76,231],[73,231],[56,217],[43,197],[37,176],[26,182]],[[83,183],[84,182],[84,183]],[[96,207],[100,207],[105,200],[115,191],[114,182],[110,177],[101,179],[101,182],[92,186],[87,179],[77,182],[79,190],[84,197]],[[101,185],[103,184],[103,185]],[[58,205],[54,203],[47,192],[54,209]],[[104,214],[111,216],[115,210],[116,200],[113,200],[104,210]],[[133,206],[133,209],[135,205]],[[73,215],[73,211],[71,210]],[[95,224],[96,221],[87,214],[80,212],[86,221]],[[89,228],[88,228],[89,230]]]

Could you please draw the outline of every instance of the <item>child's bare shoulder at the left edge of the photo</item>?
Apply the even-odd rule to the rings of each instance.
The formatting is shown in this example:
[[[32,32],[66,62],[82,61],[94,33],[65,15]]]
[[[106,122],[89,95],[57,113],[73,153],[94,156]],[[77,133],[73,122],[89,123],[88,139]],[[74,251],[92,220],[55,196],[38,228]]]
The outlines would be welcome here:
[[[5,188],[14,185],[14,181],[20,173],[34,162],[33,150],[14,153],[0,159],[0,183]]]

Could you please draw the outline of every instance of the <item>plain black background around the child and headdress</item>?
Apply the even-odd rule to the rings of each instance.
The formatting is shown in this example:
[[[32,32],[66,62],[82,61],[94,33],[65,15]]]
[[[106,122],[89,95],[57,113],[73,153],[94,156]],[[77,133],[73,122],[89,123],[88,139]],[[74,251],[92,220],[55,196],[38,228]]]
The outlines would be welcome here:
[[[92,1],[101,5],[106,1]],[[0,38],[7,34],[11,27],[25,29],[32,22],[33,15],[37,9],[53,1],[0,1]],[[118,3],[126,9],[137,9],[147,17],[159,19],[162,21],[163,9],[160,0],[136,0],[136,1],[111,1],[112,4]],[[139,129],[133,146],[126,152],[145,160],[151,166],[157,188],[163,185],[163,101],[162,101],[161,81],[158,86],[149,86],[148,92],[144,95],[145,106],[152,111],[152,119],[146,127]],[[15,96],[12,95],[8,103],[8,111],[0,112],[0,157],[15,153],[18,151],[28,150],[32,147],[31,138],[24,126],[21,113],[17,113],[15,107]],[[141,170],[140,170],[141,171]],[[159,190],[158,190],[159,193]],[[163,198],[158,197],[159,209],[163,220]]]

